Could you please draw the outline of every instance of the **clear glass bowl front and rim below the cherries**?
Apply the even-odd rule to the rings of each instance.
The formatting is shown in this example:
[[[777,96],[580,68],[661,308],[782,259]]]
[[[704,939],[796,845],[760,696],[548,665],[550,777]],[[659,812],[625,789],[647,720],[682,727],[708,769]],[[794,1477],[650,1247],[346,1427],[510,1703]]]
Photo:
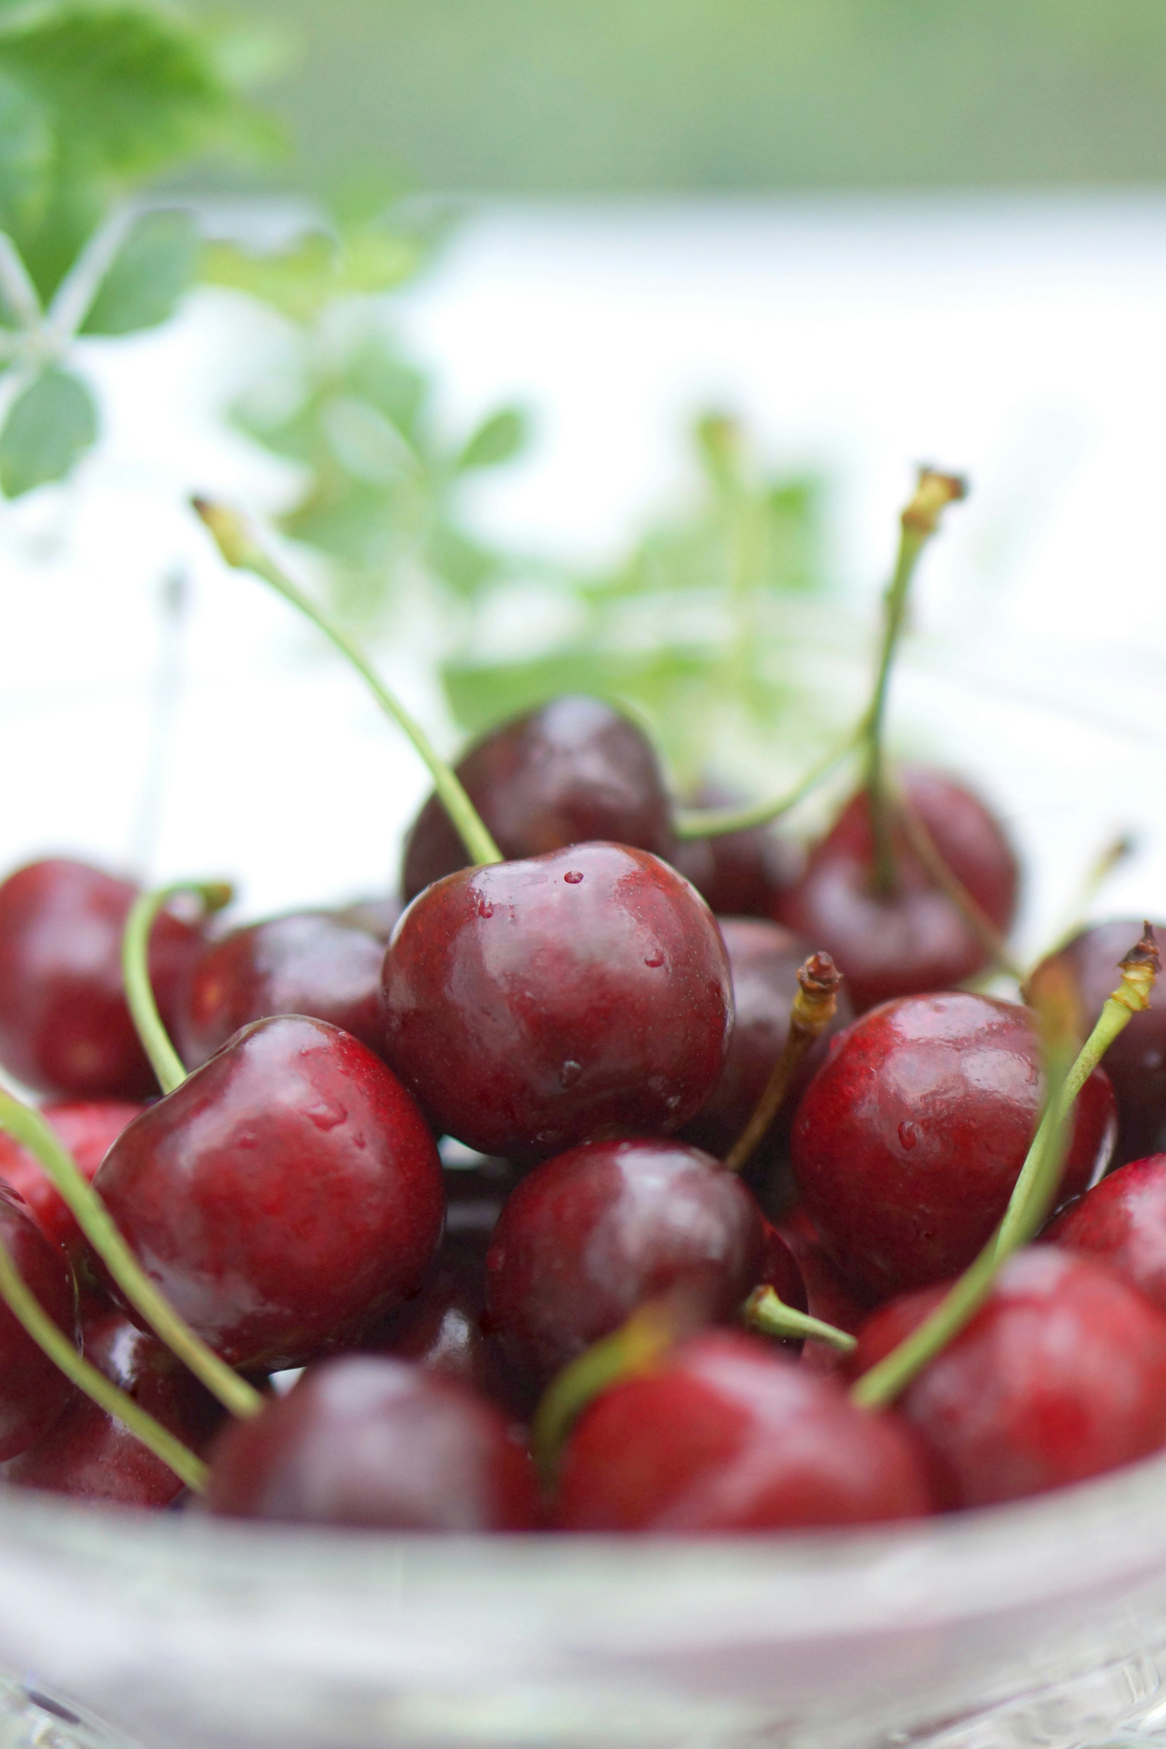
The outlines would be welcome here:
[[[1166,1457],[885,1530],[323,1534],[0,1490],[0,1746],[1166,1744]]]

